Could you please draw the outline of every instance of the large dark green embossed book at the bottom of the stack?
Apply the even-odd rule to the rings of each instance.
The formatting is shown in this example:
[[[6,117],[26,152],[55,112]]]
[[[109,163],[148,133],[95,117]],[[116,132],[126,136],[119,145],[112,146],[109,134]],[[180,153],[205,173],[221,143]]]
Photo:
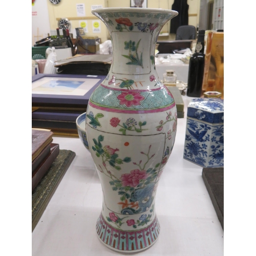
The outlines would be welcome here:
[[[75,155],[75,152],[70,150],[59,150],[59,155],[32,191],[32,231],[39,222]]]

